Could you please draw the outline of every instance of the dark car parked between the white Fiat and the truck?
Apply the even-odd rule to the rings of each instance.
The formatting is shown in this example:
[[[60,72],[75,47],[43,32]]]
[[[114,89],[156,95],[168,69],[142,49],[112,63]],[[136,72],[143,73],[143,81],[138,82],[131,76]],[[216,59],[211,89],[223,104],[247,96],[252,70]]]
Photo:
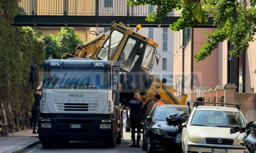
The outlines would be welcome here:
[[[154,152],[157,149],[180,150],[182,126],[180,123],[174,126],[173,122],[166,120],[177,114],[187,114],[188,117],[189,111],[185,105],[155,105],[143,124],[142,149],[147,152]]]

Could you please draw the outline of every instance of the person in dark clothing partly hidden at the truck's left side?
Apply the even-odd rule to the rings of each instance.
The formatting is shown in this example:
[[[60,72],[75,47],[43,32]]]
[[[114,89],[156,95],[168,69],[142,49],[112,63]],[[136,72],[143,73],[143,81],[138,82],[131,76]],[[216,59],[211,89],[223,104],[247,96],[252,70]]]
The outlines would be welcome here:
[[[40,114],[40,110],[39,110],[40,100],[41,100],[40,88],[41,88],[41,84],[37,87],[37,91],[34,94],[35,101],[31,109],[32,118],[31,118],[30,126],[33,126],[33,134],[37,134],[35,129],[37,127],[37,121]]]

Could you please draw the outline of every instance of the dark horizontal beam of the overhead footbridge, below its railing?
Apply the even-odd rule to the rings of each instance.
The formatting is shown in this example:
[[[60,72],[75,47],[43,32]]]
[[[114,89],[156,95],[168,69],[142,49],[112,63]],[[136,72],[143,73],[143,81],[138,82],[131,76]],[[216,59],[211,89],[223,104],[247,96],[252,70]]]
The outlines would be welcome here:
[[[178,16],[166,16],[154,22],[146,21],[145,16],[49,16],[49,15],[16,15],[12,25],[22,27],[109,27],[115,21],[123,22],[129,27],[136,27],[141,24],[143,27],[169,27]],[[213,27],[213,19],[210,18],[204,26]]]

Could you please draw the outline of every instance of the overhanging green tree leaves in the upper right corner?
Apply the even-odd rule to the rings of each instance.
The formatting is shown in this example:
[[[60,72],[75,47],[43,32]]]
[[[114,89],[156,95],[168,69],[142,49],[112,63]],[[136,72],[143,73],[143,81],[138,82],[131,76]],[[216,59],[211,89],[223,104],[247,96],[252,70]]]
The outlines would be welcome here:
[[[199,0],[128,0],[130,5],[160,5],[161,9],[152,12],[147,16],[148,21],[155,21],[167,15],[172,9],[182,10],[181,17],[170,25],[171,30],[179,31],[186,27],[202,24],[213,16],[214,24],[217,25],[215,32],[205,33],[208,40],[201,47],[201,50],[194,55],[196,61],[204,60],[211,55],[212,51],[218,47],[219,42],[230,41],[232,47],[229,48],[230,56],[239,56],[240,52],[246,51],[249,42],[254,41],[256,32],[256,8],[255,0],[202,0],[203,5],[199,5]],[[194,9],[194,10],[193,10]],[[203,20],[200,20],[201,16]]]

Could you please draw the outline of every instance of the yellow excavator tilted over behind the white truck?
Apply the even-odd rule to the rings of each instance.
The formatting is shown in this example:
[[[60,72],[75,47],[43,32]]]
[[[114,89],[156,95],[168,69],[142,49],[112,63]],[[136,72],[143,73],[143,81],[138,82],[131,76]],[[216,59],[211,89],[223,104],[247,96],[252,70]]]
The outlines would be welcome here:
[[[91,58],[94,60],[119,61],[126,72],[126,83],[123,85],[120,101],[126,106],[135,92],[140,92],[144,101],[144,111],[154,103],[155,94],[160,94],[166,104],[182,104],[187,101],[187,94],[179,92],[152,75],[151,69],[160,55],[156,48],[158,43],[146,36],[140,35],[141,25],[137,25],[136,32],[127,28],[122,22],[112,22],[110,31],[96,36],[85,44],[77,46],[71,53],[65,53],[65,58]],[[179,99],[174,95],[177,93]],[[146,115],[146,114],[144,114]]]

